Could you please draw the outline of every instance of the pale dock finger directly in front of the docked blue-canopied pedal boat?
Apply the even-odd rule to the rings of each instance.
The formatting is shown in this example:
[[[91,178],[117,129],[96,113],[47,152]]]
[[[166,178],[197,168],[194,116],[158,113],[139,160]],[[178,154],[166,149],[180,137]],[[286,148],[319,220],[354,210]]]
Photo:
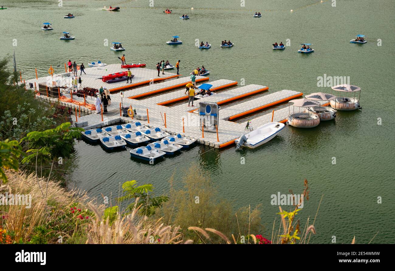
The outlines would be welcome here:
[[[269,87],[264,86],[264,85],[255,85],[255,84],[245,85],[244,87],[238,87],[238,88],[231,89],[228,91],[221,91],[220,93],[216,93],[216,94],[211,95],[209,97],[205,97],[205,98],[196,100],[195,106],[193,106],[193,107],[190,107],[190,106],[188,106],[188,103],[185,103],[185,104],[180,104],[178,106],[174,106],[173,109],[192,112],[192,111],[198,110],[197,105],[199,102],[216,102],[217,104],[225,104],[227,102],[231,102],[231,101],[234,101],[237,99],[248,97],[250,95],[254,95],[256,93],[260,93],[260,92],[266,91],[268,89],[269,89]]]

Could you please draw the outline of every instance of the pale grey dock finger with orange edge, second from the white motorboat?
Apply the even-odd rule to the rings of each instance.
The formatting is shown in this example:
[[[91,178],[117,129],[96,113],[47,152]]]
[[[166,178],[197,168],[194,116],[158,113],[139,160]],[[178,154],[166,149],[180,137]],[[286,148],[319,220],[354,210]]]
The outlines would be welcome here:
[[[223,108],[219,111],[219,116],[220,119],[226,119],[228,121],[231,121],[232,119],[236,119],[244,115],[254,113],[255,111],[259,111],[264,108],[274,106],[281,102],[292,100],[293,98],[297,98],[302,95],[303,93],[299,91],[284,89],[282,91],[270,93],[268,95],[253,100],[242,102],[241,104],[235,104],[234,106]]]

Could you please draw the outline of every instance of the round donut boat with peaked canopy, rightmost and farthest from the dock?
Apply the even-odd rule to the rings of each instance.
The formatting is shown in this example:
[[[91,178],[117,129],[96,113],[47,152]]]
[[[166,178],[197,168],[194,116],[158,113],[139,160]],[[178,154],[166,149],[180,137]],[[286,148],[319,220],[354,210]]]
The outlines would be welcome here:
[[[359,99],[361,98],[361,88],[355,85],[335,85],[332,87],[333,90],[339,91],[339,97],[336,97],[334,100],[331,100],[331,106],[336,110],[356,110],[362,109],[359,105]],[[354,93],[354,97],[344,97],[340,95],[342,92]],[[355,94],[359,92],[359,98],[355,98]]]

